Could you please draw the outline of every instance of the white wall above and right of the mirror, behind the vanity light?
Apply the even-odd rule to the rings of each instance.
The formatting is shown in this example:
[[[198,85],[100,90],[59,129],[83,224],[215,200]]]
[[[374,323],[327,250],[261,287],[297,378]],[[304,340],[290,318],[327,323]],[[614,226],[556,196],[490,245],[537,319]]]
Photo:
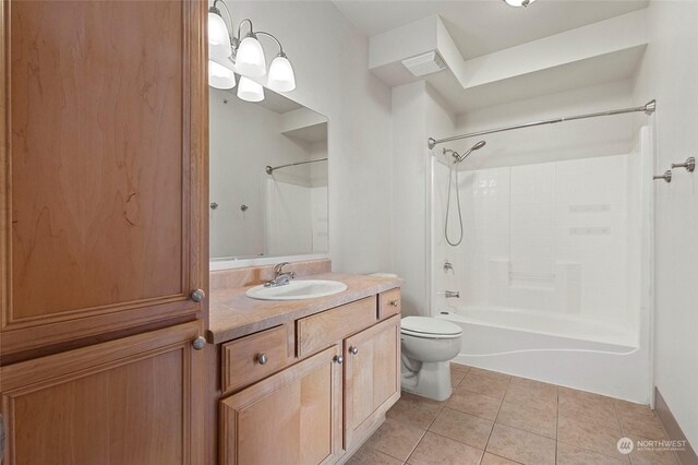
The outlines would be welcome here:
[[[390,269],[390,90],[368,68],[369,39],[330,2],[233,1],[284,44],[298,88],[288,96],[329,118],[329,252],[335,271]],[[267,60],[277,53],[261,38]]]

